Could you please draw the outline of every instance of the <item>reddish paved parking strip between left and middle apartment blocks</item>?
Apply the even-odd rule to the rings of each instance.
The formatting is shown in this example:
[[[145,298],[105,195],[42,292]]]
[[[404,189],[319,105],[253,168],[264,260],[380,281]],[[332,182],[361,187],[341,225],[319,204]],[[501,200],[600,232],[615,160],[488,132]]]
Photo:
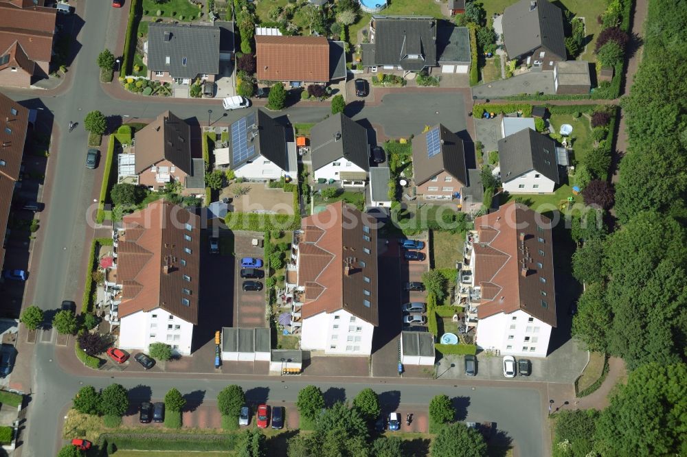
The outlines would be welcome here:
[[[263,288],[260,291],[244,291],[242,284],[244,279],[240,278],[241,259],[243,257],[256,257],[264,259],[263,250],[260,246],[253,246],[253,239],[262,241],[262,233],[241,233],[234,235],[234,327],[265,327],[265,301],[264,301],[264,279],[253,279],[259,281]]]

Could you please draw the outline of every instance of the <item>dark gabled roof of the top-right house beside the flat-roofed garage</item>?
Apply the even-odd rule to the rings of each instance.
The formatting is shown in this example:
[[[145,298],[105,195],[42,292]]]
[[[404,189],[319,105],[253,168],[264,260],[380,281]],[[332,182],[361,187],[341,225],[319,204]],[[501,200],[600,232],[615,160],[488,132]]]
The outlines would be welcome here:
[[[510,58],[528,54],[539,46],[561,59],[567,55],[563,12],[548,0],[520,0],[510,5],[504,12],[503,26],[504,45]]]

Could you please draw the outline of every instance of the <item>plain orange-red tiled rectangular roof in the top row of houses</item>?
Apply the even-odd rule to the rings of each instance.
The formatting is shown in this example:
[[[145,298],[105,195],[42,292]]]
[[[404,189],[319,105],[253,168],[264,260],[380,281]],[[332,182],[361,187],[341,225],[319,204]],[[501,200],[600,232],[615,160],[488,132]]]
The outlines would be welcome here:
[[[324,36],[255,38],[258,80],[329,81],[329,42]]]

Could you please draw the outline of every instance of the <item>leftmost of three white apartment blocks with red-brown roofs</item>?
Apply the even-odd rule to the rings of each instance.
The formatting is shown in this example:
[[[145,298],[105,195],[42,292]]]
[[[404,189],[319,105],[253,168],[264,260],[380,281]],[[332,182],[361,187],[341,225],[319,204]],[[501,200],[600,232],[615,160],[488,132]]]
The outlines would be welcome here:
[[[124,216],[115,246],[122,349],[147,350],[161,342],[174,353],[191,353],[199,316],[200,225],[199,216],[164,200]]]

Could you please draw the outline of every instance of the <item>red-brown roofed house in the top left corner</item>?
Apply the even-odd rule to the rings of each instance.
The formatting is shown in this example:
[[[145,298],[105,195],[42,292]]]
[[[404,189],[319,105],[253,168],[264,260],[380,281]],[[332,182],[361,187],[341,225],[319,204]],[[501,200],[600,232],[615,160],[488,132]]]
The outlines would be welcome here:
[[[49,75],[57,13],[42,4],[0,1],[0,86],[29,87]]]

